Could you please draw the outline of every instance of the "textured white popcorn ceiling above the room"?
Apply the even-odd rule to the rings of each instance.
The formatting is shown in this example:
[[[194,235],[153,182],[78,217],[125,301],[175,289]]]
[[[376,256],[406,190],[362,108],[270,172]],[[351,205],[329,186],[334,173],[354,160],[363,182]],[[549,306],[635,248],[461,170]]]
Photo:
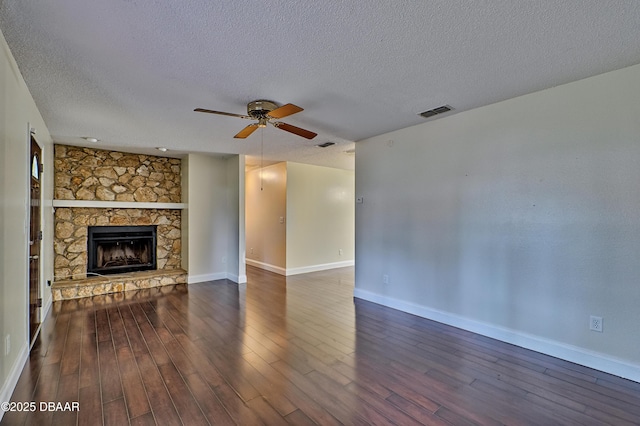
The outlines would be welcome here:
[[[266,160],[341,168],[419,112],[640,62],[635,0],[0,0],[0,29],[57,142],[257,156],[264,141]],[[255,99],[305,108],[282,121],[318,136],[238,140],[247,121],[193,112]]]

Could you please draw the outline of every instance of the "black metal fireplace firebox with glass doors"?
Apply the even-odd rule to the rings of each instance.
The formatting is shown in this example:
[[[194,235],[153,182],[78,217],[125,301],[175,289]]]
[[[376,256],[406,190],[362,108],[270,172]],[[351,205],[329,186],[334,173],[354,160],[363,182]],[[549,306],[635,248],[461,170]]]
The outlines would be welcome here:
[[[157,268],[156,226],[89,226],[87,274],[108,275]]]

